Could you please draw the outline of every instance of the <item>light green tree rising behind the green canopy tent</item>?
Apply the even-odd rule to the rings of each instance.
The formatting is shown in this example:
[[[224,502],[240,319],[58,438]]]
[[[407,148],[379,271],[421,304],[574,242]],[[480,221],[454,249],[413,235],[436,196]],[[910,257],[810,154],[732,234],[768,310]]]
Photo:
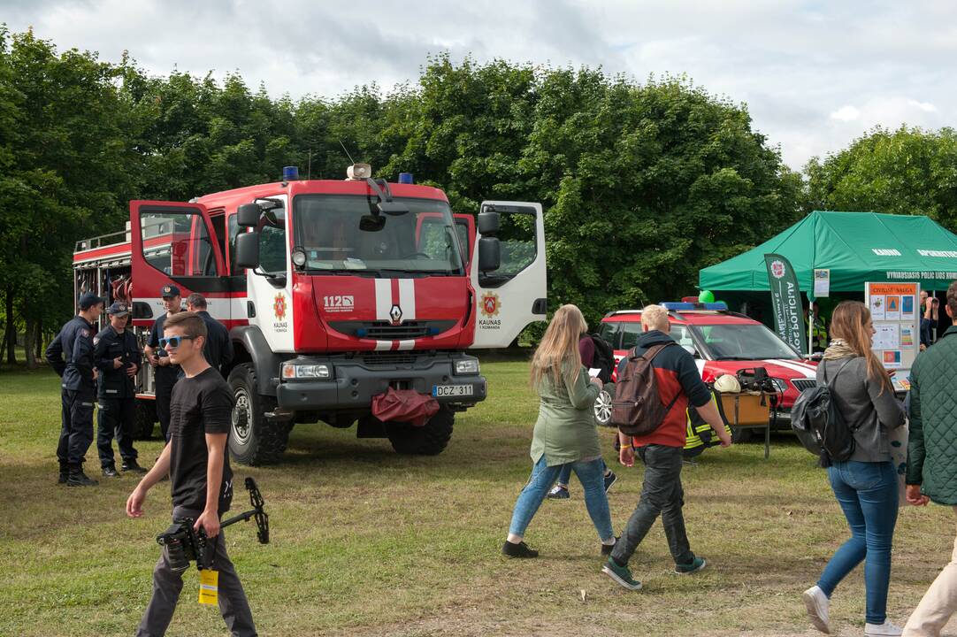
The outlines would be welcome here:
[[[926,215],[957,229],[957,132],[874,128],[808,175],[808,210]]]

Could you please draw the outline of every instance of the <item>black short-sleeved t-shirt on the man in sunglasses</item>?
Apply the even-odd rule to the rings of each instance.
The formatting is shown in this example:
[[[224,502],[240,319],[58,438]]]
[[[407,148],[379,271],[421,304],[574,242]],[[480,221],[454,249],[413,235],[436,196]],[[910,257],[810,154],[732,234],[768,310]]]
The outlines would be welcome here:
[[[206,472],[209,451],[206,434],[228,434],[233,414],[233,392],[212,368],[192,378],[181,378],[169,402],[169,479],[173,506],[202,510],[206,507]],[[233,501],[233,469],[229,445],[223,459],[219,512]]]

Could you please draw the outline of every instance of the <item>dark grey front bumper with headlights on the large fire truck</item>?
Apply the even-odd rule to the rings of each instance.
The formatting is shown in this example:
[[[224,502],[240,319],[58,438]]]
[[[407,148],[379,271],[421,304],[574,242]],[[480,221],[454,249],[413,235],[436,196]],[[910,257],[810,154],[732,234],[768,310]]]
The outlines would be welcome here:
[[[396,353],[397,354],[397,353]],[[486,396],[479,359],[465,353],[299,356],[286,361],[276,390],[286,410],[365,410],[372,398],[411,389],[460,410]]]

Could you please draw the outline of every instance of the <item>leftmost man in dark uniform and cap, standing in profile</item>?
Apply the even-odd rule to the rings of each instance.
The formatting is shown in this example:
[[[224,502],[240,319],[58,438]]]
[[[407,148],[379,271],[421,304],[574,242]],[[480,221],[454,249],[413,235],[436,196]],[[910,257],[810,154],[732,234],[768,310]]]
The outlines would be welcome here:
[[[83,473],[83,461],[93,443],[93,403],[97,395],[93,336],[103,311],[103,300],[86,292],[79,297],[77,305],[78,315],[56,334],[46,356],[56,374],[62,377],[62,425],[56,446],[59,482],[68,487],[92,487],[97,481]]]

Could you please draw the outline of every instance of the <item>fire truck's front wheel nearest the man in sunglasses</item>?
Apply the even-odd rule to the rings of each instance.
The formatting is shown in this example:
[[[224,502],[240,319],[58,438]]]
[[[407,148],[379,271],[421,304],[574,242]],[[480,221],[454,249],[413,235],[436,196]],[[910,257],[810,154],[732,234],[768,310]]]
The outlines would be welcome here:
[[[266,414],[276,409],[276,398],[256,392],[256,368],[243,363],[230,373],[233,388],[233,429],[230,454],[242,465],[275,463],[289,444],[292,421],[276,421]]]

